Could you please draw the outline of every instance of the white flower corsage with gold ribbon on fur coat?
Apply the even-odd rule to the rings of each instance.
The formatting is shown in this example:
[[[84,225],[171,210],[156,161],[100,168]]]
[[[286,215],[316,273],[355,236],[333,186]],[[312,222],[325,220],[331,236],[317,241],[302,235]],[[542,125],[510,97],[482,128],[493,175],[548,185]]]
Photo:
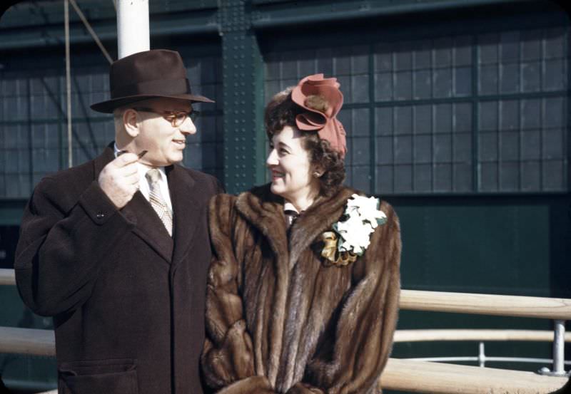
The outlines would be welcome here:
[[[345,266],[365,253],[370,244],[370,234],[387,221],[379,205],[376,197],[352,195],[347,200],[343,217],[333,224],[334,231],[322,234],[325,246],[321,256],[330,264]]]

